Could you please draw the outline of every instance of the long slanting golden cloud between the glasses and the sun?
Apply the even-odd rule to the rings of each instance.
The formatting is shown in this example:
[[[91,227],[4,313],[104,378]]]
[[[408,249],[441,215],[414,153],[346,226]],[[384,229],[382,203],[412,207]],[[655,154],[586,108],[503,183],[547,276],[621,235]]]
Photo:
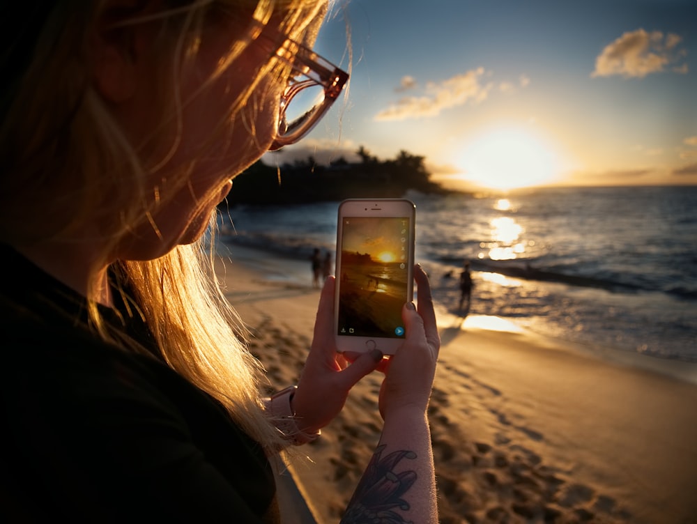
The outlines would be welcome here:
[[[440,83],[429,82],[424,95],[409,96],[383,109],[375,121],[407,120],[438,116],[443,109],[464,105],[469,101],[481,102],[491,91],[491,84],[482,85],[484,68],[477,68],[456,75]],[[404,79],[402,79],[404,82]]]

